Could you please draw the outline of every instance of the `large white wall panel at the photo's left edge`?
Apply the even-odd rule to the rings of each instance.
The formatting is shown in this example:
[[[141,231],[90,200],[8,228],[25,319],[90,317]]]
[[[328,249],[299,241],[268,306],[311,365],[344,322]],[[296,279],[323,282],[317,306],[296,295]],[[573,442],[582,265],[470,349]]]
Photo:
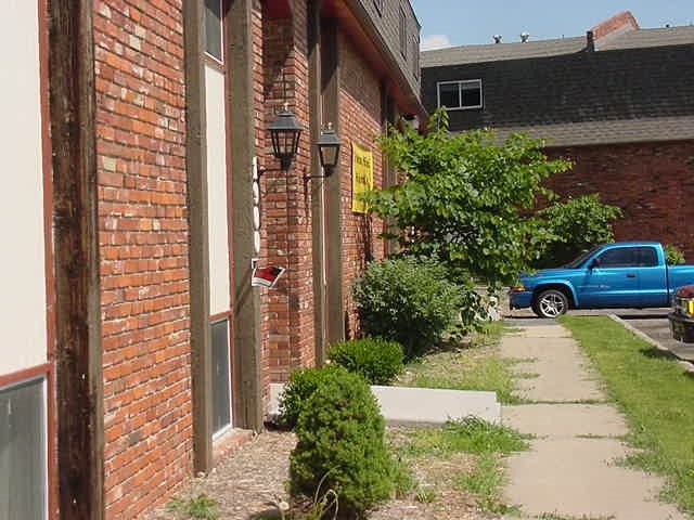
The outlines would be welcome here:
[[[38,2],[0,1],[0,374],[46,363]]]

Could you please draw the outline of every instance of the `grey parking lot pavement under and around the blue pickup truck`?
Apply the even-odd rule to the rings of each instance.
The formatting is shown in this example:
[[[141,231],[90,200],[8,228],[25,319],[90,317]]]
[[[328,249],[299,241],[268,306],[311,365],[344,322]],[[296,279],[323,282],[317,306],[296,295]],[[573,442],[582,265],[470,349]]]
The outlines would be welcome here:
[[[652,341],[658,343],[661,348],[669,350],[679,359],[694,364],[694,343],[683,343],[672,338],[670,334],[670,324],[667,315],[670,309],[604,309],[604,310],[579,310],[569,311],[571,315],[578,316],[599,316],[615,315],[621,322],[643,334]],[[537,317],[532,311],[528,309],[518,309],[506,311],[504,318],[510,325],[531,326],[551,324],[553,320]]]

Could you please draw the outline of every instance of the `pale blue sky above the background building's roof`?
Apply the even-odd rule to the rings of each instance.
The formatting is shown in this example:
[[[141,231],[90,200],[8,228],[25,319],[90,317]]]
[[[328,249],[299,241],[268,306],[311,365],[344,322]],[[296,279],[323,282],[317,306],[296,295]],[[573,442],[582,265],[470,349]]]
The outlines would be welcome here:
[[[422,50],[583,36],[600,22],[631,11],[642,28],[694,24],[694,0],[410,0],[422,24]]]

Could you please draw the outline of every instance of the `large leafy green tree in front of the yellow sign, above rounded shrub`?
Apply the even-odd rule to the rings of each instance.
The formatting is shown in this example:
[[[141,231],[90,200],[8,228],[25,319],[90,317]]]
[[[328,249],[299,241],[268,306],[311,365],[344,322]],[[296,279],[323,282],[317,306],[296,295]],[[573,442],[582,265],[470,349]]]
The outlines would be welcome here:
[[[488,131],[451,134],[440,109],[428,132],[406,126],[380,144],[407,178],[365,198],[408,251],[437,255],[455,274],[491,287],[510,285],[536,260],[548,231],[529,211],[538,195],[549,195],[542,181],[570,166],[549,160],[542,141],[514,134],[499,144]]]

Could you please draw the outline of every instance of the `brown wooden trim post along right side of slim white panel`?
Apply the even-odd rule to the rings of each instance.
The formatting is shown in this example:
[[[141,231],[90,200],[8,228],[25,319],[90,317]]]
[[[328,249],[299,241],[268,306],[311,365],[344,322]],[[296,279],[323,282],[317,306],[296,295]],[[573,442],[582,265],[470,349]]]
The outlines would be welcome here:
[[[236,426],[262,429],[260,297],[250,286],[253,250],[252,169],[255,155],[253,0],[233,0],[227,14],[231,110],[231,193],[234,281],[232,391]]]

